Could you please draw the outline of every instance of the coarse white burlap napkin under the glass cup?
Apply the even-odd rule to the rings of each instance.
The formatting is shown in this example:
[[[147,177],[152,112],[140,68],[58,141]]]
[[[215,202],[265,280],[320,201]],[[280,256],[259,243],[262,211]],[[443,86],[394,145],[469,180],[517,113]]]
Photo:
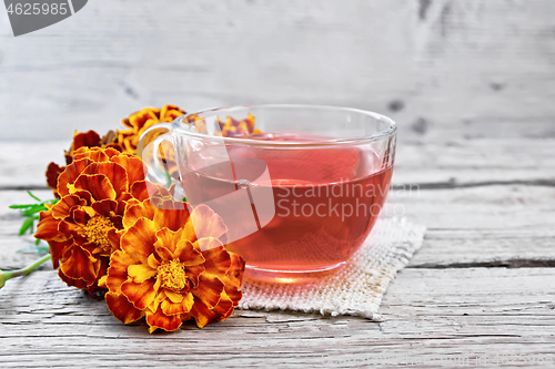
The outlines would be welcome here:
[[[301,286],[245,280],[239,308],[320,311],[380,321],[377,309],[387,285],[422,246],[424,233],[424,226],[404,218],[381,218],[361,249],[333,274]]]

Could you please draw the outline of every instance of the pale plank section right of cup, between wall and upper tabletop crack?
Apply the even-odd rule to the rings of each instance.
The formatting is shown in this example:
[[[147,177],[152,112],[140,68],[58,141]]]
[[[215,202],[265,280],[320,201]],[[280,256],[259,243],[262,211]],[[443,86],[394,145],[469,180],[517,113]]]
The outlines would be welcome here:
[[[392,182],[428,187],[504,183],[555,185],[555,140],[400,142]]]

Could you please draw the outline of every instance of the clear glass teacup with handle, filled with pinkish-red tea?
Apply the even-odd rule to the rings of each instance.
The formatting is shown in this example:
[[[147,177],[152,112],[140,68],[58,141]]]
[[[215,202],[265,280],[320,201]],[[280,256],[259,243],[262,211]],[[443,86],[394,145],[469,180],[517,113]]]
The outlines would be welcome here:
[[[223,218],[246,277],[296,283],[364,243],[387,195],[395,135],[391,119],[367,111],[248,105],[158,124],[138,153],[151,181],[173,182],[176,197]]]

